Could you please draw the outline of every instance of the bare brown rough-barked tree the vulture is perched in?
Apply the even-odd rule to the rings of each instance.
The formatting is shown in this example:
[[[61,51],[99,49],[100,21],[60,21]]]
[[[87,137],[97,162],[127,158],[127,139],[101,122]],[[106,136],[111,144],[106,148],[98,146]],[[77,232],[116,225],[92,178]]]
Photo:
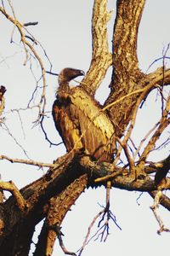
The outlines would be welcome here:
[[[27,31],[27,26],[35,25],[35,23],[21,24],[14,15],[11,3],[9,1],[8,3],[13,11],[12,15],[8,15],[8,7],[4,6],[4,3],[0,10],[20,32],[21,43],[26,52],[26,63],[30,61],[32,65],[31,57],[33,56],[42,70],[42,90],[37,81],[37,87],[32,94],[28,108],[38,109],[37,124],[42,127],[42,131],[48,139],[48,132],[44,130],[44,119],[47,114],[45,74],[47,68],[37,50],[39,43]],[[137,37],[144,3],[145,1],[117,1],[113,50],[110,53],[106,26],[111,14],[106,10],[106,1],[94,1],[93,55],[88,73],[82,80],[81,86],[82,90],[94,97],[108,68],[112,67],[111,93],[101,111],[109,115],[115,127],[117,151],[113,162],[101,164],[92,161],[82,152],[81,154],[79,152],[67,153],[50,165],[24,160],[28,165],[49,166],[50,168],[46,174],[20,191],[12,182],[1,182],[1,189],[11,191],[13,194],[7,201],[3,202],[2,199],[1,207],[1,251],[4,251],[6,255],[28,254],[35,225],[42,218],[45,218],[45,221],[34,254],[50,255],[56,236],[59,238],[60,245],[63,246],[59,226],[65,218],[65,214],[87,186],[98,187],[106,185],[106,183],[108,185],[111,183],[112,187],[120,189],[149,193],[155,199],[153,211],[160,224],[159,232],[166,230],[156,213],[156,207],[158,203],[161,203],[169,210],[169,199],[167,195],[163,194],[164,190],[169,189],[169,179],[165,177],[169,169],[169,157],[156,163],[148,162],[148,157],[154,148],[168,144],[169,98],[166,85],[169,84],[170,71],[165,67],[167,51],[161,58],[162,67],[153,73],[145,74],[139,69]],[[45,51],[44,53],[46,55]],[[31,70],[34,71],[32,66]],[[147,137],[144,137],[136,147],[132,141],[136,115],[152,90],[156,90],[161,99],[160,119],[147,134]],[[41,93],[39,102],[31,104],[37,102],[35,98],[37,92]],[[4,97],[5,95],[2,95],[2,99]],[[1,109],[4,104],[2,99]],[[16,110],[19,115],[20,110]],[[5,123],[2,119],[2,127],[7,129],[8,126],[4,126]],[[159,143],[162,134],[163,140]],[[23,160],[12,159],[5,155],[1,155],[1,158],[12,162],[23,162]],[[156,182],[150,177],[150,173],[156,173]],[[111,218],[109,207],[105,207],[101,212],[104,214],[103,216],[105,213]],[[104,225],[104,229],[105,227],[107,224]],[[102,232],[105,235],[104,230]],[[47,250],[48,253],[45,254]]]

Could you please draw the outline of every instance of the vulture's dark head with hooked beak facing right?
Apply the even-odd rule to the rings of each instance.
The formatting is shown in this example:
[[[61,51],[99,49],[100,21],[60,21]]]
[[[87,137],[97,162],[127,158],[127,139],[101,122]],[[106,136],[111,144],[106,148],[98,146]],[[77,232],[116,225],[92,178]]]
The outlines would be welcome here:
[[[76,68],[65,67],[59,73],[59,84],[69,83],[72,79],[76,79],[79,76],[84,76],[85,73]]]

